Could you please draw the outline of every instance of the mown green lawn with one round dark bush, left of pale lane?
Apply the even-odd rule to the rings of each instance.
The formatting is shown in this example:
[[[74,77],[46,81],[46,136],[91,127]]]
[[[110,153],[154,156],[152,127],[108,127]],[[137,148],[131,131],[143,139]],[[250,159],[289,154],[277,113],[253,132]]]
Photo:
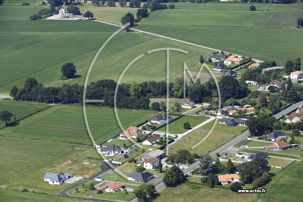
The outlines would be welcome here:
[[[183,124],[185,122],[189,122],[191,127],[195,127],[198,124],[201,124],[202,122],[206,121],[208,117],[205,116],[190,116],[190,115],[184,115],[183,117],[179,118],[176,121],[172,121],[168,124],[168,132],[171,134],[181,134],[185,131],[188,131],[188,129],[183,128]],[[161,127],[158,129],[158,131],[166,132],[166,125],[164,127]]]

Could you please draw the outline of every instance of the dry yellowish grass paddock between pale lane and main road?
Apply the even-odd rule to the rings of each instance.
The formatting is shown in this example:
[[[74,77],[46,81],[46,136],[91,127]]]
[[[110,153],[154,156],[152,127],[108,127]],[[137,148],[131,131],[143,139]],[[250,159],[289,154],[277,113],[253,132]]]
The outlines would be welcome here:
[[[176,153],[179,149],[187,149],[191,153],[196,152],[198,154],[205,154],[222,146],[223,138],[224,138],[224,142],[228,142],[236,137],[236,134],[233,133],[212,131],[210,136],[202,144],[191,150],[191,147],[195,146],[195,144],[201,141],[206,136],[207,133],[208,130],[203,130],[200,127],[199,129],[192,131],[191,133],[182,137],[182,140],[178,140],[175,144],[168,147],[168,151],[171,154],[171,153]]]

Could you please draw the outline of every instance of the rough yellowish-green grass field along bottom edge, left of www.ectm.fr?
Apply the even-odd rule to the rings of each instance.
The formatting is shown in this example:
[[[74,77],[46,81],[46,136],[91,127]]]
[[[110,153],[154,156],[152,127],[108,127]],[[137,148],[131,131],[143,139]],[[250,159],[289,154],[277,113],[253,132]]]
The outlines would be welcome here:
[[[206,186],[199,186],[197,189],[191,189],[191,185],[181,184],[176,187],[165,187],[158,193],[160,196],[156,198],[155,202],[162,201],[201,201],[201,202],[218,202],[228,201],[233,202],[251,202],[255,199],[256,194],[236,194],[231,190],[221,188],[209,188]],[[186,191],[185,191],[186,190]]]

